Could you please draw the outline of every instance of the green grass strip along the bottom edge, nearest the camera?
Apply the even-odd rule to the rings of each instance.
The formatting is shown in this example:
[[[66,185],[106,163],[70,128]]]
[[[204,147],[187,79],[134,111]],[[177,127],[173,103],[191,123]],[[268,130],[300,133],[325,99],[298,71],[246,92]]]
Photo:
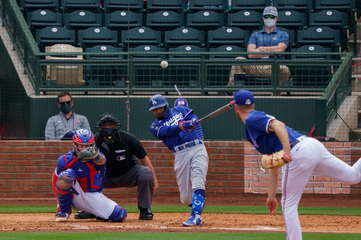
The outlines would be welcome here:
[[[0,233],[1,240],[39,240],[39,239],[92,239],[92,240],[190,240],[190,239],[225,239],[225,240],[280,240],[286,239],[284,233],[187,233],[187,232],[137,232],[137,233],[103,233],[88,232],[27,232]],[[303,234],[303,240],[359,240],[361,234]]]

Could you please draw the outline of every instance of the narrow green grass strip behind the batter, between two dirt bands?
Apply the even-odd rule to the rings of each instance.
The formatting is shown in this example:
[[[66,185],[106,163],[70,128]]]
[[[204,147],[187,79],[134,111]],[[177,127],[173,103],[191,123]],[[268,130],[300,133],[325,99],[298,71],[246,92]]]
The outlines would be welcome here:
[[[137,206],[123,206],[129,213],[138,213]],[[155,213],[188,213],[188,206],[153,206]],[[56,213],[56,206],[0,206],[1,213]],[[75,212],[75,211],[73,211]],[[361,216],[361,208],[299,207],[299,215]],[[268,214],[265,206],[206,206],[203,213]],[[276,214],[282,214],[278,207]]]

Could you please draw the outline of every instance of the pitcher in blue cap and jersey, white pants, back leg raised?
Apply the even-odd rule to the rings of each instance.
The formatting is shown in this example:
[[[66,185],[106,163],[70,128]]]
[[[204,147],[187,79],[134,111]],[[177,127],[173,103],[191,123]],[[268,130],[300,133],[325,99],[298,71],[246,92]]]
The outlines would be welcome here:
[[[361,181],[361,158],[351,167],[332,155],[318,140],[304,136],[275,117],[255,110],[254,96],[247,90],[236,92],[231,103],[235,104],[236,116],[245,124],[245,137],[263,154],[262,166],[268,168],[269,181],[266,205],[271,215],[278,208],[275,196],[279,167],[286,163],[281,199],[286,236],[288,240],[301,240],[297,207],[311,174],[357,184]]]

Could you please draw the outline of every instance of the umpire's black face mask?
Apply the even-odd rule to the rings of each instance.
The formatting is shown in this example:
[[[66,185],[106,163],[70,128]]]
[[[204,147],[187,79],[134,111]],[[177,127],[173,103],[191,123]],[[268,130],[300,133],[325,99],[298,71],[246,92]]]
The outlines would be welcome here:
[[[112,128],[105,128],[103,126],[115,124]],[[105,112],[100,116],[99,122],[95,124],[96,130],[100,133],[100,136],[103,137],[106,143],[112,143],[115,140],[116,133],[120,128],[121,122],[117,120],[112,114]]]

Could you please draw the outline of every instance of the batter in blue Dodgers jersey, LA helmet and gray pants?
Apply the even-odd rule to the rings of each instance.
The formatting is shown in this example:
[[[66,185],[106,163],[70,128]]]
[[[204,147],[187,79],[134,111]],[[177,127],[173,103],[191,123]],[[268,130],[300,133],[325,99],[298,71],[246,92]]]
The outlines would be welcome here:
[[[180,105],[170,109],[167,100],[160,94],[149,99],[150,110],[157,118],[150,131],[174,152],[174,171],[181,202],[192,207],[191,217],[183,222],[183,226],[202,226],[209,159],[203,141],[195,130],[198,117],[192,109]]]

